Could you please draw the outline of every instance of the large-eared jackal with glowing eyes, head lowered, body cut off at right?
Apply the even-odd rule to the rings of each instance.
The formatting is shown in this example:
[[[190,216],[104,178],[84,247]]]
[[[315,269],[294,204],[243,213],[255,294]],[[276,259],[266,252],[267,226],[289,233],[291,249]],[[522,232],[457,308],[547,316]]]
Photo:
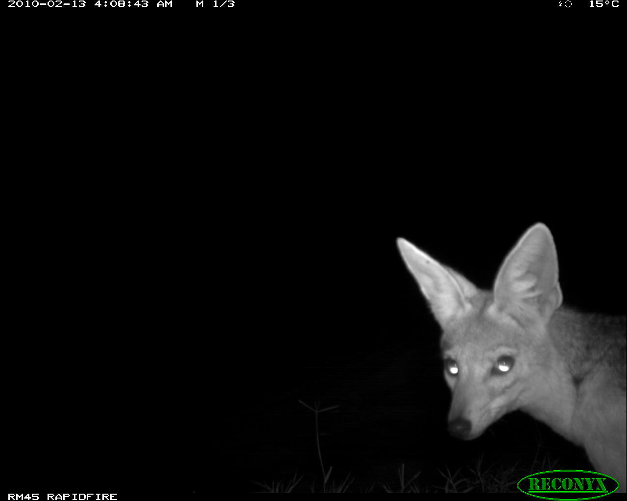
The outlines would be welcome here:
[[[492,292],[398,239],[442,328],[451,435],[471,440],[523,410],[586,449],[625,492],[625,318],[562,305],[549,229],[530,227],[503,261]]]

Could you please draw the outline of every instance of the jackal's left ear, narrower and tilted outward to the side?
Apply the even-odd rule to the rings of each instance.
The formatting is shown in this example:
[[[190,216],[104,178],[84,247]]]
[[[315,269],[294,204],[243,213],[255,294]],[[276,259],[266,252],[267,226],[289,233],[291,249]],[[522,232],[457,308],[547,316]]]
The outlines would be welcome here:
[[[398,239],[396,244],[441,325],[470,310],[468,299],[477,294],[477,288],[471,282],[407,240]]]

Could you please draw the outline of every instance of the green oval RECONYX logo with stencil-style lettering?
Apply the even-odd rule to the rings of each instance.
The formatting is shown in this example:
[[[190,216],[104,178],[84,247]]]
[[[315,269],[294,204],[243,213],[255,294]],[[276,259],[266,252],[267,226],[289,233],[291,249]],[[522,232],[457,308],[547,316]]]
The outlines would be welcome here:
[[[540,499],[594,499],[613,493],[618,482],[608,475],[585,470],[551,470],[522,478],[518,488]]]

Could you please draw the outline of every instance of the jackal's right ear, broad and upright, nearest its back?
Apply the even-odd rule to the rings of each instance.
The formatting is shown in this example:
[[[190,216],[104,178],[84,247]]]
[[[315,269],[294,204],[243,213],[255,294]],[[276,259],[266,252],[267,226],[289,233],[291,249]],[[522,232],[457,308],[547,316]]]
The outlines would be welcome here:
[[[503,261],[494,282],[495,306],[545,320],[562,304],[557,250],[542,223],[530,227]]]

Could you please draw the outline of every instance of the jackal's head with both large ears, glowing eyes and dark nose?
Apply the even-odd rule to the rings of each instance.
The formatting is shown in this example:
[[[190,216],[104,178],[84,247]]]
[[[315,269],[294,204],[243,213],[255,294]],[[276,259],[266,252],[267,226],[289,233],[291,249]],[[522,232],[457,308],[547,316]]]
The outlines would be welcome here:
[[[470,440],[524,405],[542,363],[542,340],[562,302],[549,229],[535,224],[481,291],[407,240],[401,255],[440,323],[446,383],[453,391],[448,429]]]

